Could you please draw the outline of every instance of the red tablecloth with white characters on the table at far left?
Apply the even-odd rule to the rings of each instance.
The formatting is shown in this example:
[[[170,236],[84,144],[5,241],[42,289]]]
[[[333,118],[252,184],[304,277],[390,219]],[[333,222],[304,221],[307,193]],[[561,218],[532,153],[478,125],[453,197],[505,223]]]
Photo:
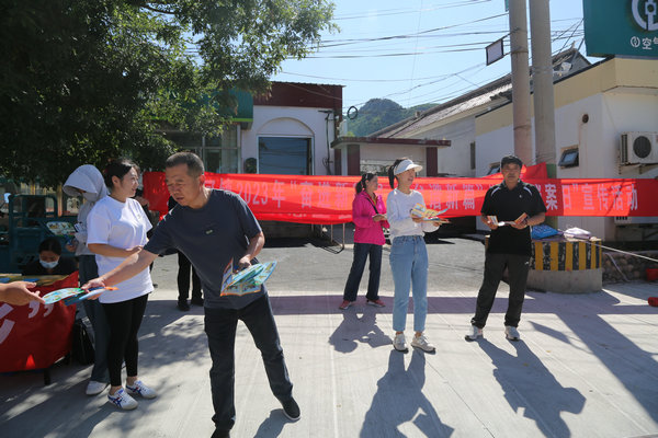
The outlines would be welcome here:
[[[56,289],[78,286],[78,272],[34,289],[45,295]],[[71,349],[71,327],[76,306],[61,301],[43,306],[0,303],[0,372],[48,368]]]

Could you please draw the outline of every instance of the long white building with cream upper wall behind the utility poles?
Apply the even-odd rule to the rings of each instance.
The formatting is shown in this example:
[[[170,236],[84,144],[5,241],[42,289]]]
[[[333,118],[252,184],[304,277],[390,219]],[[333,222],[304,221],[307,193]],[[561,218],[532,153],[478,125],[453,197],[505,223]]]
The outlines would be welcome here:
[[[564,62],[570,69],[561,68]],[[587,66],[569,50],[554,57],[554,68],[556,177],[657,177],[658,60],[611,58]],[[452,146],[438,151],[439,173],[484,176],[514,151],[510,88],[509,78],[502,78],[376,135],[447,139]],[[649,132],[646,158],[633,159],[631,151],[629,160],[620,160],[624,132]],[[534,136],[532,148],[534,157]],[[656,237],[656,222],[658,218],[560,217],[558,228],[583,228],[604,240],[645,240]]]

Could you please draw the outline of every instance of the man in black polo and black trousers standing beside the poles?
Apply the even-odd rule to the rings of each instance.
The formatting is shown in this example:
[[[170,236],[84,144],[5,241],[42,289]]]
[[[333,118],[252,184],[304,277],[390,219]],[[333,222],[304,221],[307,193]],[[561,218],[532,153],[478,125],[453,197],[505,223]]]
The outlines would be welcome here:
[[[485,256],[485,278],[477,295],[475,316],[470,320],[466,341],[475,341],[483,335],[506,267],[509,272],[510,299],[504,315],[504,335],[510,341],[520,338],[517,327],[521,320],[530,268],[530,226],[542,223],[546,212],[536,187],[519,178],[522,165],[514,155],[503,157],[500,160],[503,181],[489,187],[485,195],[480,219],[491,229],[491,235]]]

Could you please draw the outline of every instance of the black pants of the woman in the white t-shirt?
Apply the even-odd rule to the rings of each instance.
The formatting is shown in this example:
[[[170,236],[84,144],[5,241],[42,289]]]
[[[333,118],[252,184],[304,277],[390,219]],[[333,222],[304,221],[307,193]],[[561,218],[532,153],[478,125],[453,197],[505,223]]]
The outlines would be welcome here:
[[[141,325],[148,293],[122,302],[103,303],[107,325],[110,325],[110,344],[107,346],[107,370],[110,384],[120,387],[121,365],[125,360],[127,376],[137,376],[137,356],[139,345],[137,332]]]

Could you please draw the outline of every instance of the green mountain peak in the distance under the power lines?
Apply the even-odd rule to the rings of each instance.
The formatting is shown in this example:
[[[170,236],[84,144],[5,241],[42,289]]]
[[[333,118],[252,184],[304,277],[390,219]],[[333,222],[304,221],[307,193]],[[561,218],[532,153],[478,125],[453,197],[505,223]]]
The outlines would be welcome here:
[[[388,99],[371,99],[361,108],[354,119],[348,120],[348,135],[351,137],[367,137],[387,126],[411,117],[418,111],[435,106],[434,103],[405,108]]]

